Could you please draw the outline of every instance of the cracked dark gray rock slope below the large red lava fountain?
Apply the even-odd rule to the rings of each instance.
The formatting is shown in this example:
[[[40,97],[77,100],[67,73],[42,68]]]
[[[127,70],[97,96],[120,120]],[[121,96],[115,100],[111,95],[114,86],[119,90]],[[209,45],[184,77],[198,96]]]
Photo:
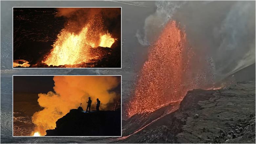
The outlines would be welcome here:
[[[115,142],[255,143],[255,81],[220,90],[192,90],[176,111],[166,114],[176,108],[167,107],[123,122],[127,137]]]

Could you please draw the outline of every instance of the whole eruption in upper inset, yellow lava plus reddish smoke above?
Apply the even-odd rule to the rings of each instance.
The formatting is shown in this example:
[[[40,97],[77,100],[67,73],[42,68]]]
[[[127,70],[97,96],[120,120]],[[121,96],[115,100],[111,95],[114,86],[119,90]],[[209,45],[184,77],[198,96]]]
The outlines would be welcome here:
[[[114,20],[116,24],[121,14],[120,8],[56,9],[58,12],[55,16],[63,16],[67,22],[57,35],[52,50],[42,60],[48,66],[75,65],[97,59],[97,52],[91,53],[90,50],[98,46],[111,48],[119,38],[118,30],[115,30],[118,28],[112,22]]]

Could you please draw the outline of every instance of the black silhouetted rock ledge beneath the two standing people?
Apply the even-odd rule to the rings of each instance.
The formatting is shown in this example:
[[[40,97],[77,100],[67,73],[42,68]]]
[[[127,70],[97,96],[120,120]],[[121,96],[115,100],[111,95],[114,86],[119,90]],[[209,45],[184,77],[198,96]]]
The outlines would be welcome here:
[[[121,110],[83,113],[70,110],[56,121],[54,130],[45,136],[120,136]]]

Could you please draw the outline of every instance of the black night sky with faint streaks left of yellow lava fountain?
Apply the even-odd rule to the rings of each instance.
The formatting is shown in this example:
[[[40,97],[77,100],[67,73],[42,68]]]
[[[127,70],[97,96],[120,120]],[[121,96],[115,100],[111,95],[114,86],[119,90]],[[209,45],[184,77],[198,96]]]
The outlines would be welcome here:
[[[66,21],[55,17],[56,12],[55,8],[13,8],[13,60],[35,64],[52,49]]]

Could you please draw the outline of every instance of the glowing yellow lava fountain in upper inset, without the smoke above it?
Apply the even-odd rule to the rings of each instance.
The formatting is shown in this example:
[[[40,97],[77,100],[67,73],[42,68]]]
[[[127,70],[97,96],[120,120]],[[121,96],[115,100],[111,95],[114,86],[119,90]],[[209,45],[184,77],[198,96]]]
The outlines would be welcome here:
[[[53,49],[42,63],[59,66],[86,62],[95,58],[90,54],[90,49],[98,46],[110,48],[115,40],[110,33],[103,31],[100,20],[92,19],[79,33],[62,29],[53,44]]]

